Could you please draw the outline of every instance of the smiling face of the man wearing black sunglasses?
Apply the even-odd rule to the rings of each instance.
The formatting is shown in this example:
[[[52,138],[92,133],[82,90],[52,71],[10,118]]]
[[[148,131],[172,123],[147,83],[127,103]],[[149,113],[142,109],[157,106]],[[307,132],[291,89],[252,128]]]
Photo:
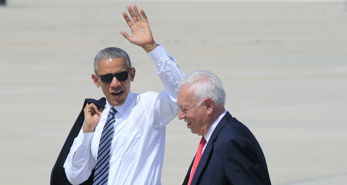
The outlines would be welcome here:
[[[99,75],[115,74],[120,71],[128,71],[123,58],[102,59],[99,61],[99,68],[97,73]],[[119,82],[116,77],[113,78],[110,84],[105,84],[101,81],[100,77],[96,74],[92,74],[92,79],[95,85],[101,87],[103,93],[106,96],[107,101],[112,106],[119,106],[124,104],[126,97],[130,92],[130,82],[134,81],[135,68],[131,68],[128,73],[128,79]]]

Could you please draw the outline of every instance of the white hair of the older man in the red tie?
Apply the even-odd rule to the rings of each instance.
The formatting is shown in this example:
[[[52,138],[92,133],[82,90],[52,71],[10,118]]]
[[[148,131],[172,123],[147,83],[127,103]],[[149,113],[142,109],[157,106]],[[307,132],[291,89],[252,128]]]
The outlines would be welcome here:
[[[218,76],[210,71],[195,70],[185,76],[179,82],[179,87],[189,86],[197,100],[196,106],[200,106],[204,99],[211,98],[218,107],[224,107],[226,93]]]

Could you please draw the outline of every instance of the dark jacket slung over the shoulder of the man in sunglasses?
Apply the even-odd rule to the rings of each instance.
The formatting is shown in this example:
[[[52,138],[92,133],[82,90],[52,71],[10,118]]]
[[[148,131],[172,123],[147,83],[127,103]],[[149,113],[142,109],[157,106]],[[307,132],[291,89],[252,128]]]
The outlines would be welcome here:
[[[94,103],[98,107],[104,107],[106,104],[106,98],[101,98],[99,100],[95,99],[85,99],[83,108],[86,106],[87,103]],[[77,137],[79,131],[82,128],[83,121],[84,121],[84,112],[83,108],[81,110],[81,113],[79,114],[75,124],[73,125],[70,134],[67,136],[67,139],[59,153],[58,159],[56,164],[53,167],[52,174],[51,174],[51,185],[71,185],[68,180],[66,179],[64,168],[62,167],[67,154],[70,152],[70,148],[72,146],[73,140]],[[89,179],[82,183],[81,185],[92,185],[93,184],[93,178],[94,178],[94,170],[92,174],[90,175]]]

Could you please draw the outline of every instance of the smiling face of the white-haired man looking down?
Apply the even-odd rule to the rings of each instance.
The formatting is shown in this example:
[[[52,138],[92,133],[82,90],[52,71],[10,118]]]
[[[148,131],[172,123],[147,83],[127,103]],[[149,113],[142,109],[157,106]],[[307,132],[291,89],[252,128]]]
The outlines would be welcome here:
[[[181,87],[177,97],[178,119],[183,119],[193,134],[205,136],[213,123],[210,117],[213,105],[210,98],[206,98],[200,106],[196,103],[193,91],[188,86]]]

